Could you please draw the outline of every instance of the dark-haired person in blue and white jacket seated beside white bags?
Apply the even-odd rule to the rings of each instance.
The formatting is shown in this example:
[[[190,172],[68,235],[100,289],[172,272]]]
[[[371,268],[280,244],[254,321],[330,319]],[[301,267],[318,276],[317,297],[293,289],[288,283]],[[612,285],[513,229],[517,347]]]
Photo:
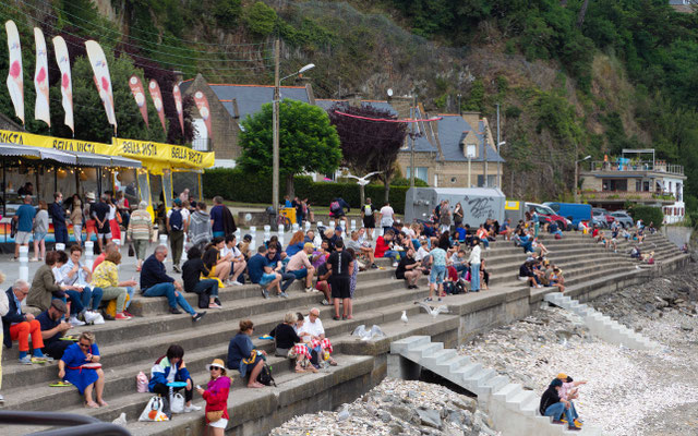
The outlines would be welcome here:
[[[186,365],[184,364],[184,349],[176,343],[167,349],[167,354],[155,361],[155,364],[151,368],[148,390],[168,399],[170,388],[167,384],[173,382],[186,383],[186,387],[184,387],[184,413],[201,410],[198,405],[192,404],[194,382],[189,375],[189,370],[186,370]],[[173,389],[177,391],[182,388],[176,387]]]

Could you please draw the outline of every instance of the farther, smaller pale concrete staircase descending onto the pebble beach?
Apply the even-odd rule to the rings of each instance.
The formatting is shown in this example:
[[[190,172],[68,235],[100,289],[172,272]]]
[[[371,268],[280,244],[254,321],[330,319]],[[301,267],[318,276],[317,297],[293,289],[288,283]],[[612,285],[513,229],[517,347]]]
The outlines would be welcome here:
[[[630,330],[610,316],[586,304],[580,304],[577,300],[573,300],[561,292],[547,293],[544,300],[580,316],[589,328],[589,331],[606,342],[624,346],[634,350],[654,351],[661,349],[658,342]]]

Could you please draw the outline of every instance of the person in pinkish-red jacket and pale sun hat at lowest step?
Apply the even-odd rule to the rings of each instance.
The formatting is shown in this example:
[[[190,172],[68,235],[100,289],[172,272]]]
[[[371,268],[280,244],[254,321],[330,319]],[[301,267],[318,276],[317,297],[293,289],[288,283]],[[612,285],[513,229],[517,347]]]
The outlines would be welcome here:
[[[226,366],[221,359],[206,365],[210,373],[210,380],[206,385],[206,390],[201,386],[196,390],[206,400],[206,424],[212,429],[214,436],[224,436],[228,426],[228,395],[230,393],[231,378],[226,375]]]

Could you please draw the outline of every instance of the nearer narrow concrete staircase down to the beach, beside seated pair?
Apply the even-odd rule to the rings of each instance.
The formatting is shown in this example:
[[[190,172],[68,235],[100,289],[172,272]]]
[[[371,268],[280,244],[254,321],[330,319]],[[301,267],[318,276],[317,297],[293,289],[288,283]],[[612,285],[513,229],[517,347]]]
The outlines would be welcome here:
[[[541,416],[538,410],[542,392],[509,383],[507,376],[459,355],[454,349],[444,349],[442,342],[432,342],[429,336],[397,340],[390,344],[390,353],[476,393],[479,403],[488,408],[495,429],[504,435],[603,435],[598,427],[583,426],[573,432],[566,425],[553,424],[552,417]]]

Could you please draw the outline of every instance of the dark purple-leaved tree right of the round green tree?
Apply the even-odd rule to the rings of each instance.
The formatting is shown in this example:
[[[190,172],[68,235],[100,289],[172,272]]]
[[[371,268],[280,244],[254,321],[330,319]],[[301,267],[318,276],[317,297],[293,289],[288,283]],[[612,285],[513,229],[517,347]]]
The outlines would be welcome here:
[[[344,164],[356,175],[372,171],[383,171],[378,177],[385,186],[385,201],[390,193],[390,179],[395,172],[395,160],[405,144],[407,125],[399,122],[370,121],[337,113],[341,111],[352,116],[373,119],[395,119],[387,110],[373,106],[349,106],[337,104],[329,109],[329,120],[337,129],[341,141]],[[363,204],[361,186],[361,204]]]

